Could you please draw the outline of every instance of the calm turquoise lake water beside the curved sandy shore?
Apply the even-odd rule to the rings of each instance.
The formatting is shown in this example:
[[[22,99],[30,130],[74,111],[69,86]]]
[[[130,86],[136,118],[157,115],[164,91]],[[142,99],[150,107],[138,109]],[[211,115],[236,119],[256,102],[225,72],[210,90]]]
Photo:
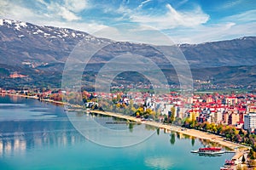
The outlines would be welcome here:
[[[90,115],[73,113],[78,119]],[[81,118],[82,117],[82,118]],[[91,117],[91,116],[90,116]],[[97,116],[96,122],[115,122]],[[90,121],[90,119],[87,119]],[[200,139],[156,133],[144,125],[109,123],[109,128],[129,129],[131,135],[104,135],[99,141],[137,137],[137,127],[151,135],[128,147],[108,147],[84,138],[67,118],[62,106],[36,99],[0,97],[0,169],[219,169],[233,154],[198,156],[190,150],[207,145]],[[125,131],[124,131],[125,132]],[[90,129],[90,137],[99,135]],[[134,134],[134,135],[133,135]],[[86,135],[85,135],[86,136]]]

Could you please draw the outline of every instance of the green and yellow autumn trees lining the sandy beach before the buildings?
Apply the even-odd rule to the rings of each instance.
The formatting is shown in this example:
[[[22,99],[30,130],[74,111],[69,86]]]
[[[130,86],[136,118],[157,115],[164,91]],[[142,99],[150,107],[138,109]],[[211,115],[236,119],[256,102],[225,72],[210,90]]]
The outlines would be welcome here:
[[[106,101],[105,105],[109,104]],[[195,117],[192,116],[192,119],[186,117],[181,119],[180,117],[174,117],[175,108],[171,108],[171,116],[161,115],[159,111],[152,111],[151,109],[144,109],[143,105],[133,105],[132,101],[130,101],[130,105],[125,104],[116,104],[113,106],[104,107],[106,111],[118,111],[125,115],[131,116],[140,116],[144,118],[152,118],[155,121],[159,121],[160,116],[164,116],[162,120],[164,123],[174,124],[181,127],[187,128],[195,128],[200,131],[218,134],[220,136],[225,137],[225,139],[230,140],[232,142],[236,142],[238,144],[244,144],[247,146],[251,146],[252,149],[249,152],[249,157],[251,159],[256,158],[256,135],[254,133],[249,133],[243,129],[236,129],[236,127],[224,125],[224,124],[215,124],[209,122],[197,122]]]

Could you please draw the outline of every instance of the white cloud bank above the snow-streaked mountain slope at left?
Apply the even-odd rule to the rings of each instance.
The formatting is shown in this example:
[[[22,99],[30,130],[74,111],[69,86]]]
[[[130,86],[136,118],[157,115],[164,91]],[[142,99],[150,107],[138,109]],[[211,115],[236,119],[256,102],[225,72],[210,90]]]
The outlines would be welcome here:
[[[74,1],[73,1],[74,2]],[[57,26],[71,28],[79,31],[92,33],[106,26],[98,24],[95,21],[86,23],[78,21],[80,17],[68,10],[65,5],[59,3],[45,3],[44,0],[38,0],[39,5],[47,10],[47,13],[38,13],[37,8],[26,8],[22,3],[17,3],[8,0],[0,1],[0,14],[2,18],[12,20],[21,20],[31,22],[39,26]],[[87,7],[83,7],[87,8]],[[83,10],[76,8],[76,10]],[[64,19],[64,20],[61,20]]]

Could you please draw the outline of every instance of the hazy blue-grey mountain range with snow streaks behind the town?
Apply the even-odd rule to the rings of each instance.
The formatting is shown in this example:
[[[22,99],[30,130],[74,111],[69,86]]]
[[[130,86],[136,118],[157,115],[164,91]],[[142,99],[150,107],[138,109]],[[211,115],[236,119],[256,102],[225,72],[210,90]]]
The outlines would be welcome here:
[[[100,68],[117,53],[131,52],[162,65],[166,74],[175,74],[171,67],[166,68],[166,59],[147,44],[114,42],[83,31],[0,20],[0,77],[3,80],[0,87],[15,87],[22,83],[32,85],[35,82],[41,86],[60,84],[65,61],[81,40],[95,46],[110,44],[90,61],[92,67]],[[211,79],[212,83],[223,85],[256,85],[256,37],[177,46],[189,61],[194,79]],[[28,77],[19,81],[9,78],[15,71]]]

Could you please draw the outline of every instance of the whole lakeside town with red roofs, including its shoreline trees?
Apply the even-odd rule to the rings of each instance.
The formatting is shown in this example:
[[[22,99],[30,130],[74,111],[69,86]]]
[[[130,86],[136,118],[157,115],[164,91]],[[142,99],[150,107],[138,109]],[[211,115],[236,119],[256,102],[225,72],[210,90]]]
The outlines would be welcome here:
[[[256,94],[253,93],[207,92],[194,93],[185,98],[178,91],[158,95],[149,91],[128,91],[127,93],[117,91],[110,94],[83,91],[81,94],[75,94],[61,89],[7,90],[0,88],[0,94],[51,99],[83,105],[89,111],[112,111],[135,116],[142,121],[195,128],[223,136],[237,144],[250,146],[252,149],[247,156],[251,160],[256,157]],[[254,161],[251,161],[251,164],[252,162]],[[226,165],[226,167],[232,166]]]

